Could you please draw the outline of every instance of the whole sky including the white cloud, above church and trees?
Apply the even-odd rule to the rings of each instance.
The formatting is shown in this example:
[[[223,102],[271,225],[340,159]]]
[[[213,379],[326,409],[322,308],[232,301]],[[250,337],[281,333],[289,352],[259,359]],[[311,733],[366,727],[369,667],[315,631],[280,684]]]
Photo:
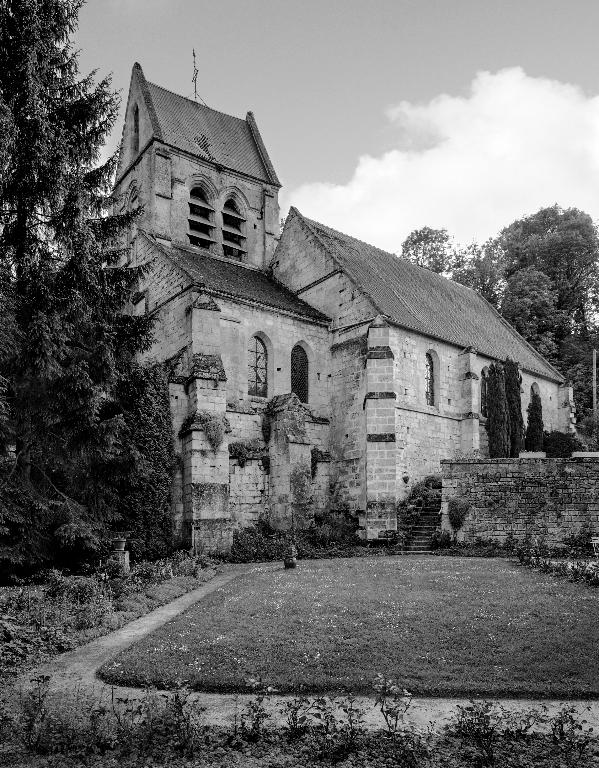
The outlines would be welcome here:
[[[599,220],[597,0],[87,0],[83,72],[252,110],[281,213],[392,252],[558,203]],[[107,150],[117,146],[121,121]]]

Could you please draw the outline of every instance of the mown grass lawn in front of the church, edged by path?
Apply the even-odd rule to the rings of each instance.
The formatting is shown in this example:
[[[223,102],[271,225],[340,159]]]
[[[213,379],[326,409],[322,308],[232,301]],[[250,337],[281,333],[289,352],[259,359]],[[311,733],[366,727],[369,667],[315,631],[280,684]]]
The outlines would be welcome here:
[[[599,590],[500,559],[303,561],[212,593],[107,664],[116,684],[599,697]]]

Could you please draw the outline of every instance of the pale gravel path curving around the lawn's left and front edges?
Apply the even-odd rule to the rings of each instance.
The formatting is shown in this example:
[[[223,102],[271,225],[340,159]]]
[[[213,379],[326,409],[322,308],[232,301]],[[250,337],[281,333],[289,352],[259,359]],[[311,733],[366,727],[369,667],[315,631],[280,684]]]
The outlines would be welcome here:
[[[224,573],[215,576],[211,581],[198,589],[188,592],[171,603],[156,608],[151,613],[132,621],[121,629],[99,637],[87,645],[62,654],[52,662],[29,672],[18,683],[17,688],[26,690],[31,685],[34,675],[50,676],[50,692],[60,699],[77,695],[93,697],[95,700],[110,701],[115,699],[135,700],[143,698],[147,693],[138,688],[110,686],[103,683],[96,673],[100,667],[114,658],[125,648],[146,637],[156,629],[166,624],[178,614],[190,608],[220,587],[228,584],[238,576],[248,573],[254,568],[278,568],[277,564],[237,565],[227,568]],[[160,694],[166,695],[166,694]],[[193,699],[198,705],[205,707],[204,720],[207,724],[226,726],[231,722],[236,711],[244,709],[253,698],[252,694],[209,694],[194,693]],[[292,696],[270,696],[266,703],[273,723],[282,724],[284,717],[280,710]],[[458,705],[467,705],[471,699],[446,698],[414,698],[406,716],[406,722],[416,727],[426,727],[432,724],[437,728],[456,712]],[[578,712],[592,725],[599,728],[599,701],[540,701],[525,699],[500,699],[498,704],[513,712],[524,711],[531,707],[544,706],[549,715],[557,713],[564,705],[574,706]],[[365,725],[372,728],[383,727],[383,721],[378,710],[374,708],[372,698],[357,697],[357,703],[365,710]]]

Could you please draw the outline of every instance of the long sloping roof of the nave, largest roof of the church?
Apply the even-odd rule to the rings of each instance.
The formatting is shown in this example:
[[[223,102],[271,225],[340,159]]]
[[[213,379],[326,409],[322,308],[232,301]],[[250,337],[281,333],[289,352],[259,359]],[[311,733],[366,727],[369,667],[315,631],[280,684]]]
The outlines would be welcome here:
[[[320,224],[291,208],[341,269],[389,321],[504,360],[553,381],[561,374],[476,291]]]

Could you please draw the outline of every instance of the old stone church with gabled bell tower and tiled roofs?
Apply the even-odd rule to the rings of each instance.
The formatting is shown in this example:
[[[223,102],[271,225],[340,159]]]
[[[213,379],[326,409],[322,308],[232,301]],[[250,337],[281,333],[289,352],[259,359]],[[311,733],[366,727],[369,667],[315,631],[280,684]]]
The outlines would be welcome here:
[[[196,549],[263,518],[345,510],[365,538],[440,460],[486,452],[485,374],[518,361],[545,428],[574,429],[560,373],[469,288],[291,208],[251,112],[232,117],[135,64],[115,195],[142,207],[129,311],[155,318],[180,456],[173,517]]]

